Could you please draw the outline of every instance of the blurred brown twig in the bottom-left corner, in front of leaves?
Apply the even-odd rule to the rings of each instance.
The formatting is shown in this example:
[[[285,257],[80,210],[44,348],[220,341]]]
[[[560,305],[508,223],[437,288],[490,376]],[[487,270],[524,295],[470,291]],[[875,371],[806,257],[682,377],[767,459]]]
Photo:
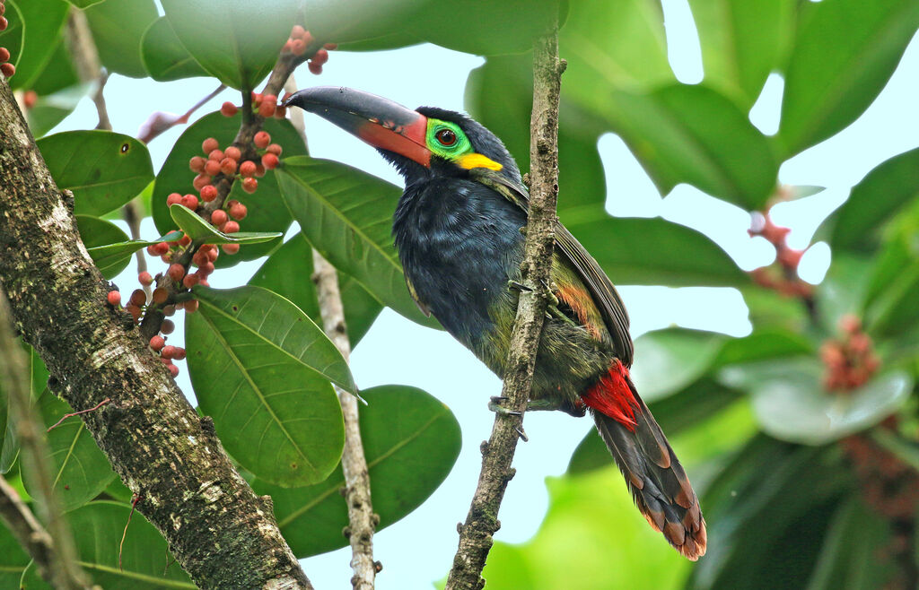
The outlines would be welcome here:
[[[40,421],[35,416],[28,386],[25,354],[13,335],[12,316],[9,304],[6,302],[6,293],[2,289],[0,289],[0,375],[5,375],[4,389],[9,397],[10,413],[15,418],[17,438],[23,451],[20,460],[28,463],[28,469],[33,474],[35,499],[40,509],[40,516],[48,525],[47,532],[36,526],[38,523],[34,521],[34,518],[29,520],[26,517],[23,511],[28,510],[21,506],[21,501],[17,507],[16,499],[13,499],[4,488],[4,504],[12,504],[6,514],[19,515],[21,521],[17,529],[24,531],[24,528],[28,527],[32,532],[39,533],[35,540],[23,543],[23,547],[39,563],[41,575],[45,580],[55,588],[89,588],[91,586],[86,581],[86,575],[76,562],[74,538],[63,518],[61,505],[54,493],[54,485],[51,484],[51,466],[48,463],[51,452],[41,435]],[[9,491],[12,489],[10,488]],[[13,495],[17,498],[15,491]],[[13,529],[12,525],[10,529]],[[44,533],[44,537],[41,537],[40,533]]]

